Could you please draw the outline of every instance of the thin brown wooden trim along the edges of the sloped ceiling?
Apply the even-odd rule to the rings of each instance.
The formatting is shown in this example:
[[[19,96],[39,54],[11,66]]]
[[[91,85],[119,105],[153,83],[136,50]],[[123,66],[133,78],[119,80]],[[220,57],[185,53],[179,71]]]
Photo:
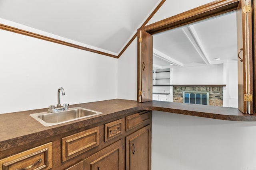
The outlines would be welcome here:
[[[150,16],[146,19],[146,21],[142,24],[141,27],[144,27],[148,23],[148,21],[154,16],[154,14],[156,14],[156,12],[159,10],[159,8],[162,6],[162,4],[164,4],[165,1],[166,0],[162,0],[158,4],[158,6],[154,9],[154,11],[150,14]],[[26,30],[23,30],[23,29],[18,29],[18,28],[15,28],[15,27],[11,27],[11,26],[8,26],[8,25],[1,24],[1,23],[0,23],[0,29],[6,30],[6,31],[11,31],[11,32],[14,32],[14,33],[19,33],[19,34],[22,34],[22,35],[27,35],[27,36],[42,39],[42,40],[45,40],[45,41],[50,41],[50,42],[53,42],[53,43],[66,45],[66,46],[69,46],[69,47],[74,47],[74,48],[85,50],[85,51],[90,51],[92,53],[106,55],[108,57],[113,57],[113,58],[116,58],[116,59],[118,59],[124,53],[124,51],[132,43],[132,41],[137,37],[137,33],[136,33],[132,37],[132,39],[126,44],[124,49],[122,49],[122,51],[118,55],[112,55],[112,54],[109,54],[109,53],[104,53],[102,51],[90,49],[90,48],[83,47],[83,46],[80,46],[80,45],[76,45],[76,44],[73,44],[73,43],[68,43],[66,41],[62,41],[62,40],[59,40],[59,39],[54,39],[54,38],[51,38],[51,37],[47,37],[47,36],[40,35],[40,34],[37,34],[37,33],[33,33],[33,32],[30,32],[30,31],[26,31]]]

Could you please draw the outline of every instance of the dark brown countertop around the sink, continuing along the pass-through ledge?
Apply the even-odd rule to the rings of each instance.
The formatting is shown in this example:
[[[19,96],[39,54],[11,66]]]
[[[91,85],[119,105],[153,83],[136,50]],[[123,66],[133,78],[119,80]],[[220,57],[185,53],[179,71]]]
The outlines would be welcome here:
[[[29,116],[32,113],[47,111],[47,108],[0,114],[0,151],[38,141],[53,135],[59,135],[138,110],[166,111],[231,121],[256,121],[256,115],[243,114],[236,108],[174,102],[152,101],[138,103],[132,100],[114,99],[76,104],[71,105],[69,108],[72,107],[84,107],[100,111],[103,114],[50,127],[44,127],[41,123]]]

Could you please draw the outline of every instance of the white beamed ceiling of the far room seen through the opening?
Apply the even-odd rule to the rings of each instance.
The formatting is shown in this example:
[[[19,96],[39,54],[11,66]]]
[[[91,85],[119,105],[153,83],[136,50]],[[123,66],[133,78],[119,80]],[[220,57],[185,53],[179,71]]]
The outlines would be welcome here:
[[[237,60],[236,12],[156,34],[153,41],[154,68]]]

